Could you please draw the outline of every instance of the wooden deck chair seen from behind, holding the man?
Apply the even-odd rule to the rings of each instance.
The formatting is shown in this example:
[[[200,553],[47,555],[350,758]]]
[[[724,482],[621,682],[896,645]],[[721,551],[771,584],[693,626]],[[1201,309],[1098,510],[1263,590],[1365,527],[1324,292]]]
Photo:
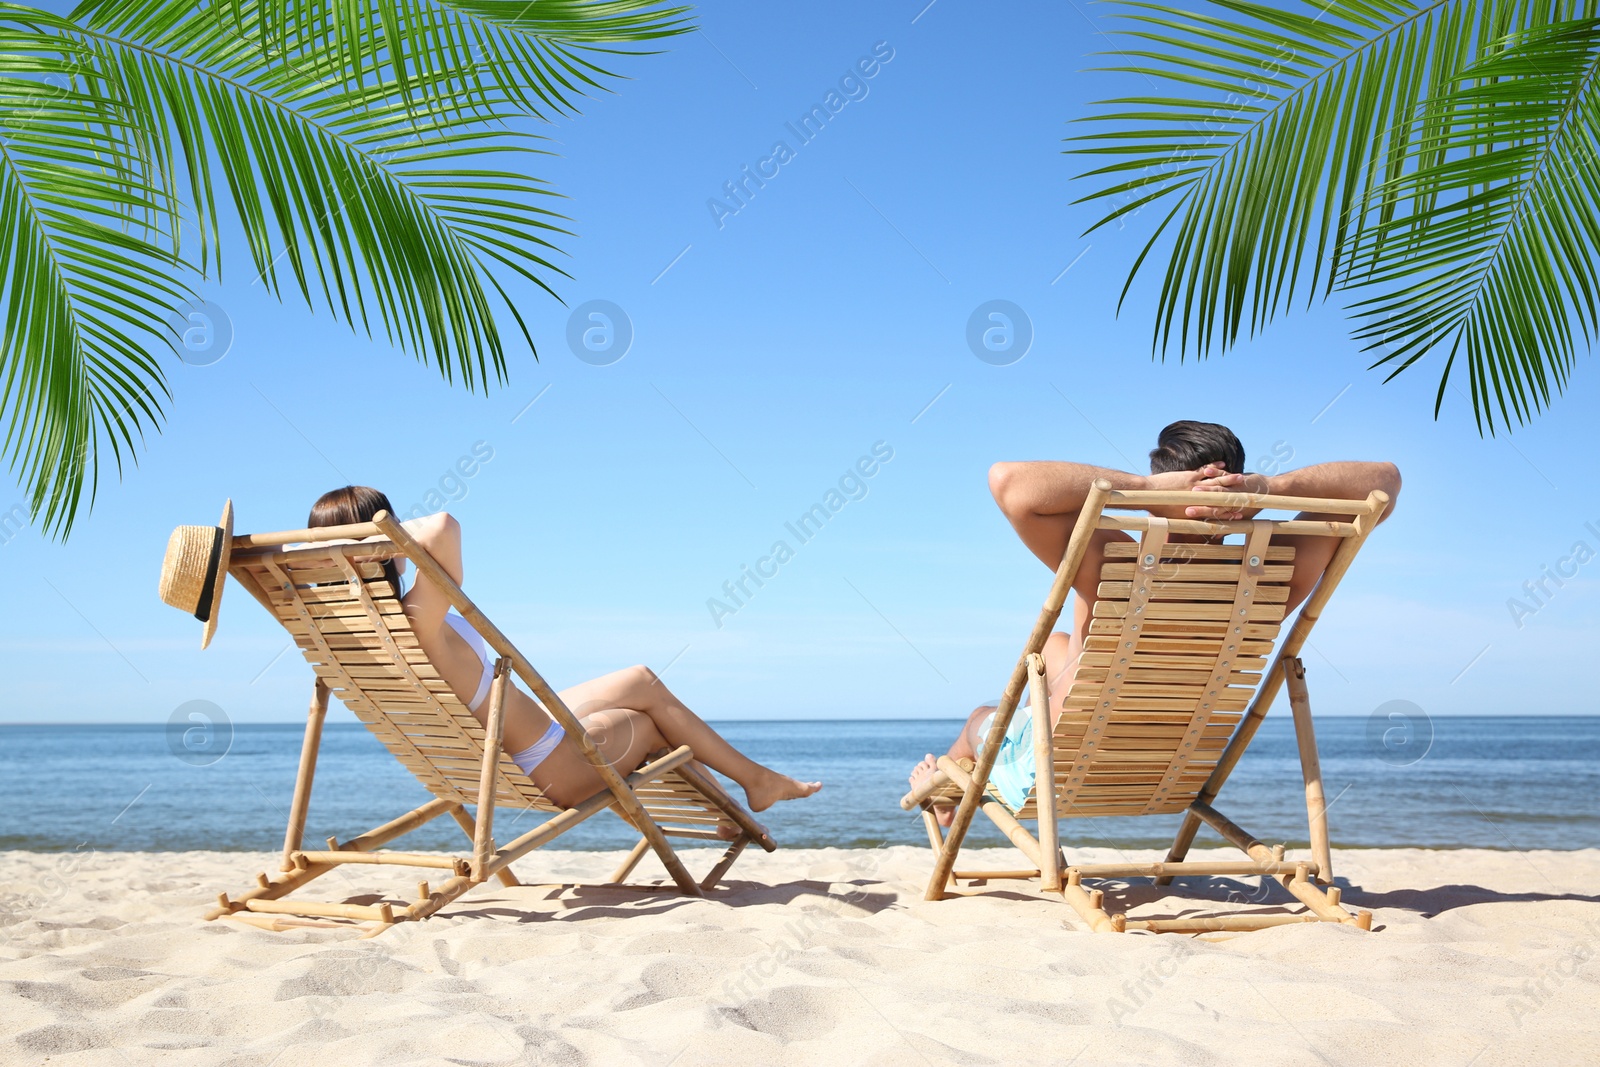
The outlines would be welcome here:
[[[1306,669],[1298,653],[1389,498],[1376,491],[1365,501],[1219,494],[1205,502],[1347,515],[1349,520],[1210,522],[1107,514],[1106,509],[1194,504],[1194,494],[1117,491],[1106,480],[1096,482],[976,765],[963,766],[966,761],[941,757],[938,771],[901,800],[907,811],[922,808],[936,853],[926,899],[941,899],[958,878],[1038,878],[1042,891],[1061,893],[1096,931],[1258,929],[1317,920],[1371,928],[1371,912],[1352,915],[1339,904],[1339,889],[1333,886],[1322,771]],[[1062,715],[1051,728],[1040,651],[1096,530],[1125,530],[1139,539],[1107,545],[1083,654]],[[1170,534],[1243,534],[1243,542],[1178,542],[1168,541]],[[1294,557],[1291,545],[1272,544],[1275,534],[1315,534],[1341,542],[1269,665]],[[1310,822],[1312,856],[1304,862],[1285,861],[1282,845],[1267,848],[1211,806],[1283,685],[1288,685],[1294,713]],[[990,774],[1024,686],[1029,689],[1027,713],[1034,717],[1035,785],[1026,803],[1011,806]],[[1053,789],[1040,793],[1040,782]],[[955,808],[949,833],[941,832],[934,817],[933,809],[939,806]],[[1027,856],[1029,869],[955,869],[978,811]],[[1067,865],[1061,854],[1061,819],[1173,813],[1182,813],[1184,821],[1165,862]],[[1024,821],[1037,822],[1037,837]],[[1250,859],[1184,862],[1202,822]],[[1166,885],[1184,875],[1270,877],[1304,902],[1306,910],[1131,920],[1125,913],[1109,913],[1104,889],[1086,885],[1139,877]]]

